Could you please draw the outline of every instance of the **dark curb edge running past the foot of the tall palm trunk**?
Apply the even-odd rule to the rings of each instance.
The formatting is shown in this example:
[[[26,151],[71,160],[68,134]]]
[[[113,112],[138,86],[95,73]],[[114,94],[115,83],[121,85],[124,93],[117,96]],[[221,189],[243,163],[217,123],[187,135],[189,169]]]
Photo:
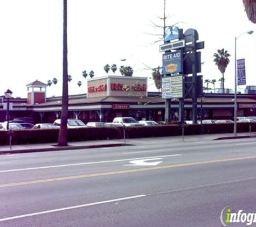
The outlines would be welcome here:
[[[52,145],[56,146],[56,145]],[[66,151],[66,150],[79,150],[88,148],[102,148],[102,147],[118,147],[118,146],[132,146],[132,144],[99,144],[99,145],[84,145],[84,146],[66,146],[66,147],[49,147],[49,148],[33,148],[23,150],[6,150],[1,151],[1,154],[17,154],[17,153],[30,153],[30,152],[44,152],[44,151]]]

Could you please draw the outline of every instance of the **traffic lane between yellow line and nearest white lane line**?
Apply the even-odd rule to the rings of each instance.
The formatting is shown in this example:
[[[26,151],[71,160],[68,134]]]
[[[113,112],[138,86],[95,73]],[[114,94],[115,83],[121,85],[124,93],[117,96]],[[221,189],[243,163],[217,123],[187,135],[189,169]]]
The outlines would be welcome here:
[[[255,171],[254,161],[247,160],[0,188],[1,218],[142,194],[246,182],[254,182],[255,187]]]

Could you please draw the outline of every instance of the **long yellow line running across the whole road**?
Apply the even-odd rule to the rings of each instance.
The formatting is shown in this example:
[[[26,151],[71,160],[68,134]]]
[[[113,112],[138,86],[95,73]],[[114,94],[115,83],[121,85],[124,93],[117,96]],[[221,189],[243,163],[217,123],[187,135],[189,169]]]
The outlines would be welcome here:
[[[188,162],[188,163],[166,165],[166,166],[146,167],[146,168],[139,168],[139,169],[126,169],[126,170],[123,170],[123,171],[113,171],[113,172],[105,172],[105,173],[92,173],[92,174],[75,175],[75,176],[64,176],[64,177],[61,177],[61,178],[51,178],[51,179],[24,181],[24,182],[16,182],[16,183],[6,183],[6,184],[3,184],[3,185],[0,185],[0,188],[15,187],[15,186],[22,186],[22,185],[33,185],[33,184],[36,184],[36,183],[47,183],[47,182],[56,182],[56,181],[64,181],[64,180],[77,180],[77,179],[84,179],[84,178],[93,178],[93,177],[96,177],[96,176],[110,176],[110,175],[125,174],[125,173],[153,171],[153,170],[158,170],[158,169],[168,169],[168,168],[195,166],[195,165],[215,164],[215,163],[218,163],[218,162],[240,161],[240,160],[248,160],[248,159],[255,159],[255,158],[256,158],[256,155],[253,155],[253,156],[247,156],[247,157],[216,159],[216,160],[210,160],[210,161],[197,161],[197,162]]]

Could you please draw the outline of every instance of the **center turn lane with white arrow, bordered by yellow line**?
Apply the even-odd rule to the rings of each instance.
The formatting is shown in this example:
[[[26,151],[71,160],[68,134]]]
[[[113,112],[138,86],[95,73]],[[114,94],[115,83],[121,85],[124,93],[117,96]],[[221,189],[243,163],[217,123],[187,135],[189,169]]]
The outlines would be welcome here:
[[[72,164],[64,166],[45,166],[38,168],[25,169],[6,169],[0,171],[0,183],[15,183],[23,181],[58,179],[58,178],[87,178],[90,174],[118,174],[119,171],[128,169],[137,169],[157,164],[159,168],[172,168],[172,165],[200,165],[204,162],[226,162],[239,159],[255,159],[256,155],[246,156],[246,152],[251,152],[251,148],[244,148],[243,153],[236,152],[234,148],[225,149],[225,152],[215,152],[215,150],[200,152],[195,155],[193,153],[185,154],[169,154],[151,157],[137,157],[129,159],[115,159],[100,162],[85,162],[84,164]],[[238,150],[240,151],[240,150]],[[132,162],[132,163],[131,163]],[[158,167],[155,167],[158,168]],[[142,170],[143,171],[143,170]],[[117,173],[115,173],[117,172]]]

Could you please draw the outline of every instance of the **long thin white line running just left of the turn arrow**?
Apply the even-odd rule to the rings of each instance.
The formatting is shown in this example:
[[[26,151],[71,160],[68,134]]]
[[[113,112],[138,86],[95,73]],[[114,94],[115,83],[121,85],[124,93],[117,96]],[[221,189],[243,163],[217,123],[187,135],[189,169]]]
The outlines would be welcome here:
[[[132,158],[132,159],[118,159],[118,160],[110,160],[110,161],[82,162],[82,163],[65,164],[65,165],[57,165],[57,166],[41,166],[41,167],[22,168],[22,169],[6,169],[6,170],[3,170],[3,171],[0,171],[0,173],[27,171],[27,170],[34,170],[34,169],[59,168],[59,167],[66,167],[66,166],[81,166],[81,165],[102,164],[102,163],[108,163],[108,162],[132,161],[132,160],[135,160],[135,159],[139,160],[139,159],[150,159],[150,158],[164,158],[164,157],[173,157],[173,156],[179,156],[179,155],[181,155],[181,154],[170,154],[170,155],[162,155],[162,156],[155,156],[155,157],[143,157],[143,158]]]

